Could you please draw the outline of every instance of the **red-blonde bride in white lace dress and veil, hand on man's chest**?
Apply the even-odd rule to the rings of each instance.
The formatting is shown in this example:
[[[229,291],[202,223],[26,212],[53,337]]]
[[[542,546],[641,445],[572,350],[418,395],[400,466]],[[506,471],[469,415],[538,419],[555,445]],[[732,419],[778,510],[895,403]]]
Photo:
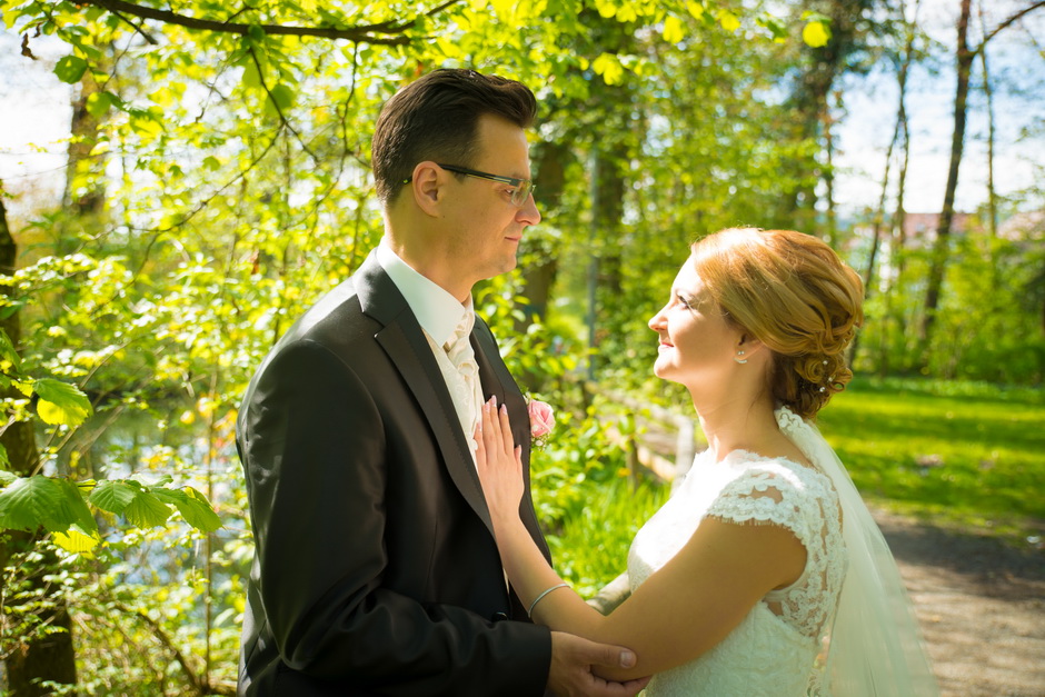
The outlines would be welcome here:
[[[654,371],[689,389],[708,448],[636,536],[604,616],[519,520],[519,449],[482,408],[479,477],[534,621],[635,650],[649,697],[935,695],[895,562],[812,424],[852,372],[859,277],[815,237],[728,229],[693,246],[649,321]]]

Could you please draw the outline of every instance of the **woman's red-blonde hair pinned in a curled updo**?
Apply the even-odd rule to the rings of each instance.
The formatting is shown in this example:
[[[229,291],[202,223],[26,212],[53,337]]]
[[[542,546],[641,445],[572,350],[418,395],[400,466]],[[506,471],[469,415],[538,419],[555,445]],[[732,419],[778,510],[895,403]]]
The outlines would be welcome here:
[[[845,349],[864,321],[864,285],[819,239],[729,228],[693,245],[693,260],[726,320],[773,352],[774,401],[815,418],[853,378]]]

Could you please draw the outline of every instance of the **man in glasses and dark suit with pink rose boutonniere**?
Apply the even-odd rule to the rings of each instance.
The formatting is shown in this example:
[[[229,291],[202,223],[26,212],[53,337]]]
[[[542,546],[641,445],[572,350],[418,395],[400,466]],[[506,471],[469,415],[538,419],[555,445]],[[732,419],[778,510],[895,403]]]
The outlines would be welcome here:
[[[507,586],[474,460],[490,396],[529,462],[529,419],[479,280],[540,213],[522,84],[438,70],[385,106],[385,238],[255,375],[237,445],[257,550],[240,695],[634,695],[634,655],[529,623]],[[527,482],[522,516],[547,555]]]

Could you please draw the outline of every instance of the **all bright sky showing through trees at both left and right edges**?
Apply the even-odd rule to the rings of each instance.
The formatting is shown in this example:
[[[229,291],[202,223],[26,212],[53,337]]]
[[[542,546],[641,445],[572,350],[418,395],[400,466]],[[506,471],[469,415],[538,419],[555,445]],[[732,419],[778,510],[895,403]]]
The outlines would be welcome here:
[[[996,26],[1029,0],[984,0],[988,28]],[[908,0],[913,4],[913,0]],[[974,2],[974,4],[977,4]],[[955,44],[958,0],[922,0],[919,23],[933,41]],[[978,37],[978,18],[974,21]],[[988,44],[988,60],[996,77],[995,186],[1002,196],[1026,188],[1045,176],[1045,9],[1001,32]],[[978,42],[978,38],[976,39]],[[1045,41],[1045,40],[1042,40]],[[0,29],[0,179],[19,199],[8,202],[18,216],[34,202],[56,201],[62,185],[62,167],[70,120],[70,86],[52,74],[54,61],[67,52],[63,44],[46,39],[32,42],[39,60],[20,56],[20,38]],[[978,68],[977,68],[978,70]],[[986,109],[978,73],[969,97],[956,208],[972,211],[987,198]],[[836,127],[836,202],[843,215],[859,215],[880,196],[885,152],[892,136],[896,80],[887,66],[864,77],[847,79],[842,117]],[[953,132],[954,69],[949,62],[918,66],[908,89],[912,153],[906,208],[914,212],[938,211]],[[1036,136],[1021,133],[1036,128]],[[893,171],[896,171],[895,165]]]

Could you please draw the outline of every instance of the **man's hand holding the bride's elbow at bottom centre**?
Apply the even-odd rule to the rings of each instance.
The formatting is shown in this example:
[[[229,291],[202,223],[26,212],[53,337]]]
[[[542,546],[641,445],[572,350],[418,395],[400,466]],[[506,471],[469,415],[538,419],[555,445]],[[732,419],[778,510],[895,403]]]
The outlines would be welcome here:
[[[548,689],[558,697],[631,697],[649,678],[614,683],[593,673],[595,666],[631,668],[635,654],[619,646],[596,644],[563,631],[551,633],[551,668]]]

